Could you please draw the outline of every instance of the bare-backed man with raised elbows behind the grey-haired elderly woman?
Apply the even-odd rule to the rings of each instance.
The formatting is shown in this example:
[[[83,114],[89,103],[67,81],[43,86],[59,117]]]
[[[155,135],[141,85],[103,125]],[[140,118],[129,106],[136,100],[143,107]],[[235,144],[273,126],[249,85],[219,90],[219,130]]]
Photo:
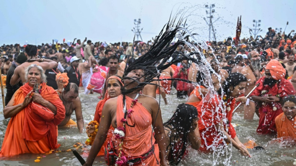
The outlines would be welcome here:
[[[44,58],[37,58],[38,55],[37,47],[36,45],[27,45],[25,49],[25,55],[28,58],[27,62],[17,66],[17,68],[14,70],[14,74],[12,75],[12,78],[10,80],[11,85],[15,85],[18,82],[25,83],[25,69],[30,66],[31,64],[38,64],[42,67],[43,70],[52,69],[58,66],[58,63],[50,60],[50,59],[44,59]]]

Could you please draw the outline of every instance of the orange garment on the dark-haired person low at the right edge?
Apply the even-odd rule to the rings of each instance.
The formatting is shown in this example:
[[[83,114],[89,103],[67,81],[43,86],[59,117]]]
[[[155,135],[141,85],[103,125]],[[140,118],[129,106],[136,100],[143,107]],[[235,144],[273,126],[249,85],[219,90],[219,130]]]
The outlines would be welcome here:
[[[284,121],[282,121],[284,119]],[[275,118],[275,126],[276,126],[276,131],[278,133],[278,138],[280,137],[286,137],[290,136],[296,140],[296,117],[292,120],[289,120],[284,112],[279,114]]]

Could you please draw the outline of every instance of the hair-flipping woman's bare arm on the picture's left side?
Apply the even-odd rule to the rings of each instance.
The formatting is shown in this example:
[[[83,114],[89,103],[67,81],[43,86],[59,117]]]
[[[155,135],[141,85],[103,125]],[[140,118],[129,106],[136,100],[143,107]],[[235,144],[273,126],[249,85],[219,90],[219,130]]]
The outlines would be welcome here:
[[[107,133],[110,128],[111,120],[112,120],[110,115],[111,105],[112,103],[110,103],[110,100],[108,100],[104,104],[101,122],[98,126],[98,132],[97,132],[96,138],[93,141],[93,145],[90,149],[88,158],[84,166],[93,165],[93,161],[95,157],[97,156],[98,152],[100,151],[101,147],[103,146],[107,138]]]

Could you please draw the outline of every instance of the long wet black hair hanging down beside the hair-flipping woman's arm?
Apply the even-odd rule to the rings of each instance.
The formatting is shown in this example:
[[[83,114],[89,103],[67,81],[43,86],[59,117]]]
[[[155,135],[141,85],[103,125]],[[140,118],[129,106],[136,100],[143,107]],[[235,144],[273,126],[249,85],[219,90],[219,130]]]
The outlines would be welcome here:
[[[163,125],[169,128],[169,164],[177,165],[181,161],[188,144],[188,133],[191,130],[193,120],[198,117],[196,107],[189,104],[179,104],[174,115]],[[166,130],[166,129],[165,129]]]

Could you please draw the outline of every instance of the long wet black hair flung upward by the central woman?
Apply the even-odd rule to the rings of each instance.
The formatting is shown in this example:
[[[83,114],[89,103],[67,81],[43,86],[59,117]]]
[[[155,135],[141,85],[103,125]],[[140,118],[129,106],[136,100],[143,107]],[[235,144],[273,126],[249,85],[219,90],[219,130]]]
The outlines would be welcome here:
[[[172,64],[181,62],[183,60],[188,60],[196,64],[202,63],[201,57],[198,52],[185,54],[183,51],[177,50],[177,47],[180,45],[184,46],[186,44],[186,41],[178,40],[174,45],[170,46],[170,43],[174,40],[175,37],[177,37],[177,34],[178,35],[181,34],[185,40],[189,38],[189,35],[187,35],[186,31],[184,31],[184,26],[183,27],[181,26],[183,22],[184,22],[183,18],[180,18],[178,22],[176,21],[176,18],[174,18],[171,21],[169,19],[169,22],[160,31],[159,36],[155,39],[155,42],[151,46],[150,50],[143,56],[133,61],[131,64],[129,63],[128,67],[126,66],[122,79],[123,80],[131,79],[133,80],[132,83],[137,82],[139,84],[136,87],[131,89],[125,89],[125,86],[128,85],[128,84],[125,84],[125,86],[121,88],[122,94],[131,93],[136,89],[144,87],[146,84],[151,84],[150,82],[155,81],[155,79],[153,78],[159,78],[161,71],[164,69],[167,69]],[[184,25],[185,23],[186,23],[186,20],[184,22]],[[193,55],[195,55],[197,58],[193,58]],[[128,55],[128,59],[130,58],[130,56],[133,58],[133,54],[132,54],[132,55]],[[173,59],[170,62],[166,63],[170,57],[172,57]],[[144,70],[144,76],[143,76],[144,81],[142,83],[138,82],[138,80],[134,78],[126,77],[129,72],[135,69]],[[195,82],[192,82],[186,79],[180,79],[180,78],[169,78],[165,80],[181,80],[187,83],[195,83]]]

